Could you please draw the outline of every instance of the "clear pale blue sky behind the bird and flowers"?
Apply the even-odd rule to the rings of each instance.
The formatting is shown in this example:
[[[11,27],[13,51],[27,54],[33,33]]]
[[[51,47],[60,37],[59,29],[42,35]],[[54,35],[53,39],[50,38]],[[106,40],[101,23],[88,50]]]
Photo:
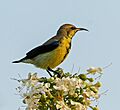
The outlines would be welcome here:
[[[77,72],[90,66],[112,66],[104,70],[99,101],[101,110],[120,109],[120,0],[1,0],[0,1],[0,110],[17,110],[22,100],[15,95],[18,73],[48,76],[32,65],[12,64],[56,34],[64,23],[85,27],[78,32],[67,59],[59,65]]]

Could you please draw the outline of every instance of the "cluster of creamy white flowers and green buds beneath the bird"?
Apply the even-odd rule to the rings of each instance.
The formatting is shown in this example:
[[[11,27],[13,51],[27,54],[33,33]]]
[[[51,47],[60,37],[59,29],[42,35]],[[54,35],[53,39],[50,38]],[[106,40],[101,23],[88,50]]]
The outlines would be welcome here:
[[[27,79],[18,80],[17,90],[26,110],[98,110],[92,102],[100,97],[101,83],[95,75],[101,72],[92,67],[85,74],[72,75],[58,68],[49,78],[29,73]]]

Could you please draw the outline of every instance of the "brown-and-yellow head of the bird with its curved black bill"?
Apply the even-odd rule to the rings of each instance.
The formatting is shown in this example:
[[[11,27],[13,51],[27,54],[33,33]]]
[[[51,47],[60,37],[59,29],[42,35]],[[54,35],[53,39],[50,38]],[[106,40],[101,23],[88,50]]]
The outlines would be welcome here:
[[[63,24],[57,31],[57,35],[63,35],[72,38],[77,31],[82,31],[82,30],[88,31],[85,28],[77,28],[72,24]]]

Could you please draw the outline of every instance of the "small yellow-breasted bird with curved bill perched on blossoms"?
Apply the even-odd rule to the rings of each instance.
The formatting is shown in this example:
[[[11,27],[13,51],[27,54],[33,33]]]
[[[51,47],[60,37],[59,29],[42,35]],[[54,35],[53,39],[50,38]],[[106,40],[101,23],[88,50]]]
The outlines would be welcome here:
[[[88,31],[85,28],[77,28],[73,24],[63,24],[58,29],[55,36],[42,45],[30,50],[26,56],[12,63],[33,64],[38,68],[48,72],[61,64],[71,49],[73,36],[78,31]]]

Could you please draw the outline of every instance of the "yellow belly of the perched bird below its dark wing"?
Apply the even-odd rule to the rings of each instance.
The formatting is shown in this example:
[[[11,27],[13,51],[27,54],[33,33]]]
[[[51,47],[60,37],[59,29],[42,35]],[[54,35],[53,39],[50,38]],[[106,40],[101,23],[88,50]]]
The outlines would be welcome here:
[[[40,54],[37,57],[33,59],[33,64],[39,68],[47,69],[55,68],[58,66],[67,56],[66,54],[66,48],[64,47],[58,47],[55,50]]]

